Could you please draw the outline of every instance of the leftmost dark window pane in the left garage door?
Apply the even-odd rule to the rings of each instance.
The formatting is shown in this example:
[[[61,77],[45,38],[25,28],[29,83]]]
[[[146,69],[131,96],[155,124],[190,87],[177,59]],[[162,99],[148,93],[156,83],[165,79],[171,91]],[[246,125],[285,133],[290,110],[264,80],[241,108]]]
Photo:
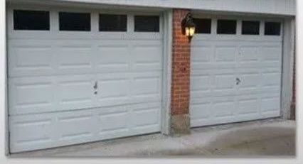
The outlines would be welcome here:
[[[50,14],[48,11],[14,10],[14,29],[48,31]]]

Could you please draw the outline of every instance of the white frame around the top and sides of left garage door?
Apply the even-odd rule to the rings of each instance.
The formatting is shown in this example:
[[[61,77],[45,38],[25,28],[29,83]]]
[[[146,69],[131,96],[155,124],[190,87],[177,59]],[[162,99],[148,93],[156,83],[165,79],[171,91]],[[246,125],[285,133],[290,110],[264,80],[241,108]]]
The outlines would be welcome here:
[[[16,5],[16,6],[15,6]],[[17,6],[18,5],[18,6]],[[77,8],[79,5],[80,8]],[[48,4],[48,6],[41,5],[41,4],[26,4],[20,5],[20,4],[9,4],[6,6],[6,9],[10,8],[16,8],[16,9],[52,9],[55,7],[60,7],[60,9],[68,9],[68,11],[89,11],[90,13],[94,11],[100,11],[102,9],[102,13],[140,13],[144,12],[143,14],[147,13],[159,13],[161,17],[161,35],[162,35],[162,58],[163,58],[163,64],[162,64],[162,80],[161,80],[161,119],[160,119],[160,125],[161,125],[161,133],[164,134],[169,134],[169,106],[170,106],[170,84],[171,84],[171,31],[172,31],[172,10],[171,9],[150,9],[150,8],[130,8],[129,11],[119,11],[120,8],[117,9],[117,6],[85,6],[85,8],[81,7],[81,4],[73,4],[73,7],[70,7],[68,4],[60,4],[60,5],[55,5],[55,4]],[[92,10],[91,8],[92,7]],[[106,9],[103,9],[106,8]],[[124,7],[123,9],[127,10],[128,7]],[[8,14],[9,10],[6,10],[6,16],[9,16]],[[6,22],[7,21],[6,17]],[[50,20],[51,21],[51,20]],[[6,43],[8,43],[8,30],[6,31]],[[5,128],[6,128],[6,142],[5,142],[5,152],[6,155],[9,155],[10,153],[10,148],[9,148],[9,91],[8,91],[8,52],[6,50],[6,70],[5,70],[5,75],[6,75],[6,80],[5,80],[5,85],[6,85],[6,92],[5,92]]]

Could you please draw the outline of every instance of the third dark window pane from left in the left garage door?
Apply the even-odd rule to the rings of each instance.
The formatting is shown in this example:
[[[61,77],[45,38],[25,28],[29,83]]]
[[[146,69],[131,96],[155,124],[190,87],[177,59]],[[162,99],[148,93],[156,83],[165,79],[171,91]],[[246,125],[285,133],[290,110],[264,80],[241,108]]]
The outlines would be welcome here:
[[[127,31],[127,16],[100,14],[99,31]]]

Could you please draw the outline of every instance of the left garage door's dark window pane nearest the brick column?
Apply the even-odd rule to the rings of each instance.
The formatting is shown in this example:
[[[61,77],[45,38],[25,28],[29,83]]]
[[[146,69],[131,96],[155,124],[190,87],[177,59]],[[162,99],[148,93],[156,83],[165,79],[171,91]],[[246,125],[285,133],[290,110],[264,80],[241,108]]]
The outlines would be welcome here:
[[[159,16],[134,16],[134,31],[159,32]]]

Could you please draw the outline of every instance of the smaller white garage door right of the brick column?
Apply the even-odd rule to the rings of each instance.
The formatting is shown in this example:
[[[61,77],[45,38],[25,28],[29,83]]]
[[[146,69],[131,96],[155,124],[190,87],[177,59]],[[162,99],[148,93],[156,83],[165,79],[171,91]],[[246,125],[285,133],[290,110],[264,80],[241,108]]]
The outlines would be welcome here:
[[[280,116],[282,23],[195,18],[191,126]]]

